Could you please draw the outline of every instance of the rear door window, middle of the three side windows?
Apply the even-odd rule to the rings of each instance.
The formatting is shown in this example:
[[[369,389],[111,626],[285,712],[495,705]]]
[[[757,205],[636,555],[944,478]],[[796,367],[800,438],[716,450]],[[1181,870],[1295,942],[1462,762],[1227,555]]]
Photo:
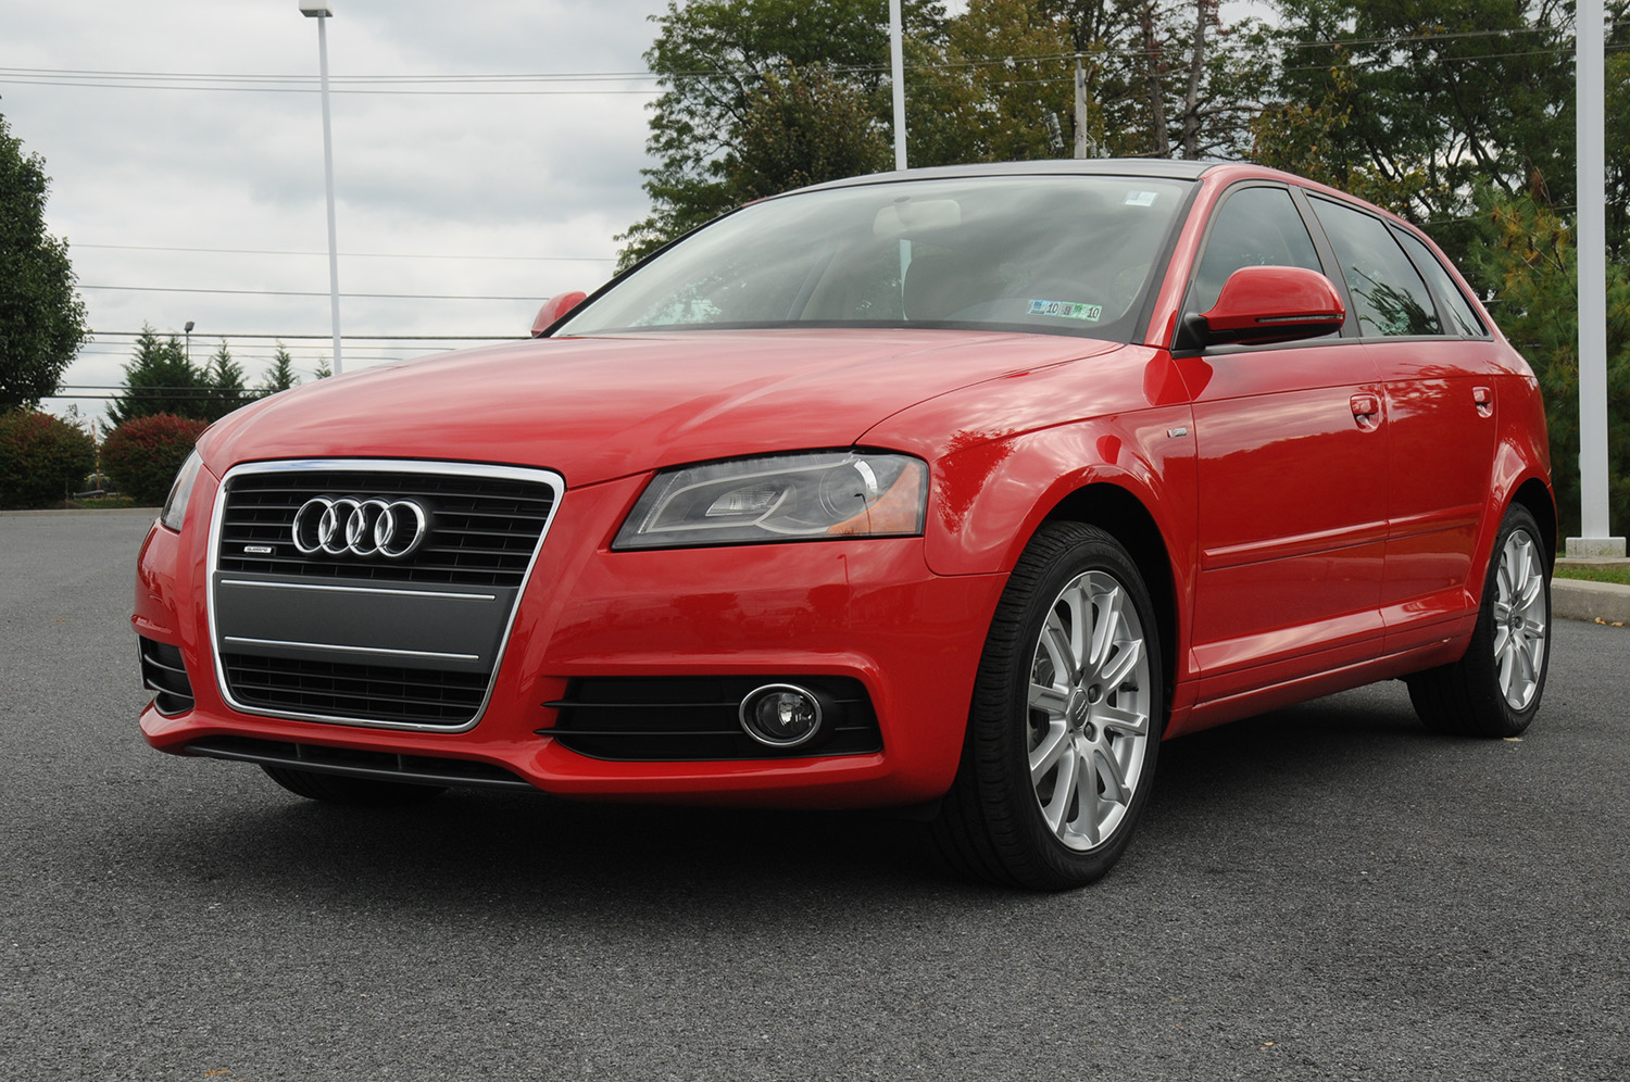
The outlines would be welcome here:
[[[1311,202],[1346,274],[1359,334],[1443,334],[1431,290],[1392,240],[1392,230],[1363,210],[1319,197]]]

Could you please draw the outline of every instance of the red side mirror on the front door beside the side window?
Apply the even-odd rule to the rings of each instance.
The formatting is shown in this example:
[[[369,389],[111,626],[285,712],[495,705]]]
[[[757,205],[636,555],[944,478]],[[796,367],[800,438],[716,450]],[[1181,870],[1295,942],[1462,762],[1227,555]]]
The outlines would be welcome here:
[[[1294,342],[1328,334],[1346,319],[1330,279],[1304,267],[1240,267],[1211,311],[1190,316],[1206,345]]]

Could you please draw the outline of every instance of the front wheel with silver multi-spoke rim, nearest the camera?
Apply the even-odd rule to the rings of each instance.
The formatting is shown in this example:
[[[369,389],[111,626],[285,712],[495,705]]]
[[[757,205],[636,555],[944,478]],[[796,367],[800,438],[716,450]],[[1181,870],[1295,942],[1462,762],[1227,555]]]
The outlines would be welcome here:
[[[1002,885],[1097,880],[1148,803],[1164,720],[1138,567],[1095,526],[1043,526],[996,606],[936,846],[958,872]]]

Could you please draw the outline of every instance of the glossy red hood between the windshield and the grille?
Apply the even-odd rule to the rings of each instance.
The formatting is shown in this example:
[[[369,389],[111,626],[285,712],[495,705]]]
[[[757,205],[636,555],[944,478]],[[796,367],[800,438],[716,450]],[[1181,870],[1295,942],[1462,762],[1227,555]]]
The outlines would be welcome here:
[[[926,399],[1117,349],[988,331],[719,331],[540,339],[368,368],[217,424],[212,468],[274,458],[548,466],[580,486],[662,466],[848,446]]]

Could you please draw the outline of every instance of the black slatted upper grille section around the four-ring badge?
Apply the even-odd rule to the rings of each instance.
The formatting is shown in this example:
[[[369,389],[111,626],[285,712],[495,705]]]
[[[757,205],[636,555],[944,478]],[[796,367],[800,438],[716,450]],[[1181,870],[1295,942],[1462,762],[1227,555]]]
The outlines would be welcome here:
[[[293,546],[302,504],[315,495],[359,494],[417,500],[432,515],[430,536],[403,561],[303,556]],[[243,473],[227,486],[217,567],[233,574],[518,587],[553,507],[553,487],[512,477],[367,468]]]

